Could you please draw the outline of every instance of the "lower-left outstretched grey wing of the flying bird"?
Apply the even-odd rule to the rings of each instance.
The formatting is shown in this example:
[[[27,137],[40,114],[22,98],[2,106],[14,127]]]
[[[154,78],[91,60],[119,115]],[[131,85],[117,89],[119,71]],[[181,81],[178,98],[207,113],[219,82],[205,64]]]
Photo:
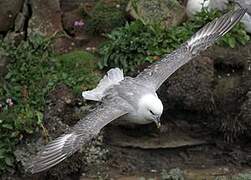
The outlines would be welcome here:
[[[94,138],[100,130],[112,120],[126,114],[118,105],[107,103],[98,106],[94,111],[80,120],[69,133],[63,134],[47,144],[33,159],[28,168],[32,173],[38,173],[55,166],[80,147]]]

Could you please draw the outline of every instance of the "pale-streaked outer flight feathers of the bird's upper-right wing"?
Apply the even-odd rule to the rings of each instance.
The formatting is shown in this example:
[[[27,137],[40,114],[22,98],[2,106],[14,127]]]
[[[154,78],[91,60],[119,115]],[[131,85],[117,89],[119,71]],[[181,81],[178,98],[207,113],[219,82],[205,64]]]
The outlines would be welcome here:
[[[236,11],[229,12],[200,29],[186,42],[186,45],[192,55],[197,55],[212,45],[220,37],[224,36],[236,23],[240,21],[246,11],[246,9],[241,8]]]

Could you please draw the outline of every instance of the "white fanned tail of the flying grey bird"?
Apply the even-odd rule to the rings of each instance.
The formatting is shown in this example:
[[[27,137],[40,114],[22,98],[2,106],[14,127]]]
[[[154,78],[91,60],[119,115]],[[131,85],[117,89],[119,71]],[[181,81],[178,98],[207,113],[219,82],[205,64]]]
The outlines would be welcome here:
[[[107,72],[107,75],[100,80],[97,87],[90,91],[83,91],[82,96],[86,100],[101,101],[105,90],[115,84],[119,84],[124,79],[123,70],[112,68]]]

